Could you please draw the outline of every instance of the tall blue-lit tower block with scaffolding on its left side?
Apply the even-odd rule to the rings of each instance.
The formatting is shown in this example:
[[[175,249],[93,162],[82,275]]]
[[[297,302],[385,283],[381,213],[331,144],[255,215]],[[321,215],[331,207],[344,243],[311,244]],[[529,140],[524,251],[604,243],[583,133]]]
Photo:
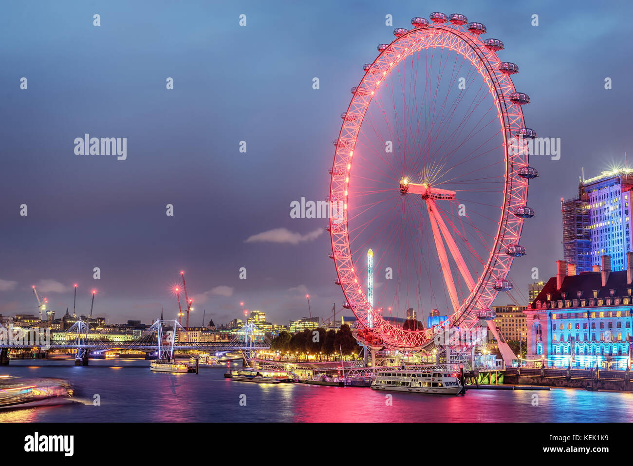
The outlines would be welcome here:
[[[577,272],[601,265],[601,256],[611,257],[611,270],[627,267],[631,251],[631,189],[633,169],[618,168],[581,180],[578,196],[561,200],[565,261]]]

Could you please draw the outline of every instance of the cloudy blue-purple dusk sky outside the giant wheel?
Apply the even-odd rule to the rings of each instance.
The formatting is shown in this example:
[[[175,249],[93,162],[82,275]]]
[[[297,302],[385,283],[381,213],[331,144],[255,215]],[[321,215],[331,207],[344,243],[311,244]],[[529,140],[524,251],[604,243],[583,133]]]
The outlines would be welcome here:
[[[530,158],[536,217],[510,271],[527,296],[532,267],[547,280],[562,258],[560,198],[576,194],[582,168],[589,178],[633,158],[630,3],[3,3],[0,313],[36,313],[35,285],[61,317],[77,283],[78,313],[96,289],[94,315],[110,323],[151,322],[161,308],[175,318],[180,270],[192,325],[203,310],[216,324],[241,317],[240,301],[287,324],[308,315],[306,293],[313,315],[339,310],[327,220],[291,218],[290,203],[327,198],[363,63],[431,11],[503,40],[499,57],[518,64],[513,81],[531,98],[527,126],[560,137],[560,160]],[[85,134],[127,137],[127,159],[75,154]]]

